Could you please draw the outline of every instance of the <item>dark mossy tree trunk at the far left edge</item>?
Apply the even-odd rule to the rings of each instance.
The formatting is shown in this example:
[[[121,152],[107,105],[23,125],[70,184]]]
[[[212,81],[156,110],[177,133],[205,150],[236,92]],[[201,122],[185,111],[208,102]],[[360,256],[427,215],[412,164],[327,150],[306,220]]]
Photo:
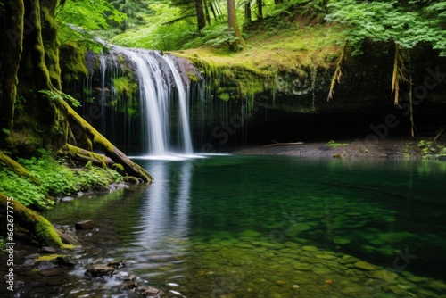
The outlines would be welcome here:
[[[4,24],[9,28],[2,30],[1,48],[4,54],[0,60],[2,91],[0,94],[0,145],[9,146],[6,141],[12,132],[15,97],[17,95],[17,72],[21,62],[23,40],[23,1],[7,0],[4,7]]]

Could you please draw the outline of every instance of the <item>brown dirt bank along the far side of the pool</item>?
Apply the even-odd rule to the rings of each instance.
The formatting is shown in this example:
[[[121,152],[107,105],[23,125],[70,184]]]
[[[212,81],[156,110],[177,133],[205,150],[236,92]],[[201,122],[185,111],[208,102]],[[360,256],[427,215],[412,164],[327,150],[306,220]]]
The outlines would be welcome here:
[[[290,155],[290,156],[332,156],[332,157],[370,157],[370,158],[422,158],[419,142],[432,141],[433,137],[386,137],[378,141],[367,141],[364,138],[342,139],[326,142],[310,142],[301,145],[252,146],[235,150],[234,154],[242,155]],[[274,144],[274,142],[271,142]],[[435,143],[433,143],[435,144]],[[446,137],[436,142],[446,145]],[[434,154],[432,156],[434,158]]]

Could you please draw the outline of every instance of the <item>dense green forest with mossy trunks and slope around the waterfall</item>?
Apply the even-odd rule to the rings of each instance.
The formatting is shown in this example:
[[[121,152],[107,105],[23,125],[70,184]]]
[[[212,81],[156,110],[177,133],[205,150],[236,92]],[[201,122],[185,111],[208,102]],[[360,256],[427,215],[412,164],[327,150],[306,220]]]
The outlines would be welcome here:
[[[66,89],[88,75],[86,56],[107,52],[107,43],[189,59],[223,101],[262,103],[260,95],[273,98],[277,77],[288,74],[311,82],[314,105],[316,77],[324,73],[328,88],[318,91],[318,100],[336,104],[336,88],[348,76],[344,66],[384,61],[389,71],[378,86],[407,109],[412,136],[413,105],[423,92],[413,89],[424,78],[420,69],[431,66],[427,84],[442,84],[444,91],[437,65],[446,56],[446,2],[440,0],[6,0],[0,15],[4,208],[7,197],[18,206],[47,208],[57,195],[152,180],[79,116],[78,98]],[[444,93],[436,98],[444,105]],[[61,244],[54,234],[48,240],[26,209],[16,212],[39,242]]]

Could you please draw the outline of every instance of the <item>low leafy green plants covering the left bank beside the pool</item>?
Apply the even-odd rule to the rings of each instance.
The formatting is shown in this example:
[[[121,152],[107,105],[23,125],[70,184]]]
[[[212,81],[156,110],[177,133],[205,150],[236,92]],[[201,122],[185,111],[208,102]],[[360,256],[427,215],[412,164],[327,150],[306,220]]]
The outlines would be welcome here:
[[[19,159],[19,163],[41,184],[35,185],[9,168],[0,167],[0,189],[4,195],[12,196],[25,206],[47,208],[54,203],[51,196],[72,195],[80,190],[123,182],[122,176],[115,170],[96,167],[71,170],[60,161],[55,161],[45,149],[39,149],[39,153],[41,156]]]

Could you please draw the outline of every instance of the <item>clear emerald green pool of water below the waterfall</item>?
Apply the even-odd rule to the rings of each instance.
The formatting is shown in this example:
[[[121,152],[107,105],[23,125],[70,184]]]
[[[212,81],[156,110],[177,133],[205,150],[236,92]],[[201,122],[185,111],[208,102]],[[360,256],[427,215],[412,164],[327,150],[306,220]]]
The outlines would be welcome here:
[[[136,160],[156,179],[45,216],[82,248],[68,296],[132,296],[120,270],[172,297],[446,297],[446,163],[213,156]]]

